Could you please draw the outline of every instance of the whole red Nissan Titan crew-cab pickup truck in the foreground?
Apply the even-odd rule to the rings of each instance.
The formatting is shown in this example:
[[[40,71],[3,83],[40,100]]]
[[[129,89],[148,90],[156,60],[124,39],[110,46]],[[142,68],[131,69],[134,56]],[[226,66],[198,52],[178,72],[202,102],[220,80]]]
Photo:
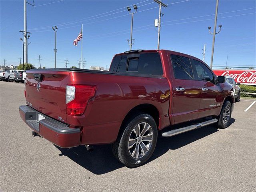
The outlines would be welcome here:
[[[33,136],[62,148],[112,144],[114,156],[128,167],[150,158],[159,130],[169,127],[161,132],[171,137],[213,123],[226,128],[234,108],[232,86],[224,76],[217,78],[198,58],[169,50],[116,54],[108,72],[26,73],[26,105],[19,112]]]

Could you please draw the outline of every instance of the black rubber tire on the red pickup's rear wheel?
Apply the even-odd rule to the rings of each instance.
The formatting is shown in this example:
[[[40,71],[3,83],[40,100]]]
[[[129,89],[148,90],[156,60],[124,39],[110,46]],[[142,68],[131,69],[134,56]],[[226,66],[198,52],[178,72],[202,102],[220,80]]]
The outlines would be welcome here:
[[[151,129],[144,132],[144,136],[142,135],[138,139],[138,141],[135,144],[132,144],[136,150],[136,147],[138,148],[138,154],[140,154],[142,157],[140,158],[134,158],[131,154],[130,150],[133,150],[132,148],[129,149],[129,139],[134,134],[133,130],[138,126],[139,132],[143,130],[143,127],[140,126],[141,124],[148,124],[150,125]],[[149,132],[150,131],[150,132]],[[147,141],[142,141],[144,137],[147,137],[151,134],[152,131],[152,142],[150,144],[150,147],[148,151],[145,154],[142,154],[142,145],[144,145]],[[158,135],[158,129],[156,126],[156,122],[152,116],[145,113],[138,113],[132,117],[130,117],[126,122],[124,122],[123,126],[120,128],[120,133],[118,134],[118,137],[116,141],[112,144],[112,152],[114,156],[117,158],[118,161],[120,161],[122,164],[124,164],[127,167],[136,167],[144,164],[153,154],[154,149],[156,147],[157,142],[157,135]],[[147,144],[147,143],[146,143]],[[137,146],[138,145],[138,146]],[[144,145],[146,146],[146,145]],[[146,148],[145,148],[146,149]],[[140,152],[139,152],[140,151]],[[143,150],[144,152],[144,150]]]

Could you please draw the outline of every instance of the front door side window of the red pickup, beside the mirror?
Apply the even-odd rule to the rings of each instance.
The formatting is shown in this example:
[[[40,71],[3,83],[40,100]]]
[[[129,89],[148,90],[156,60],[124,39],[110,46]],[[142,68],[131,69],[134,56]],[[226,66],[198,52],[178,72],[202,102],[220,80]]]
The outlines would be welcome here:
[[[213,84],[215,83],[214,76],[211,70],[205,64],[194,60],[194,65],[196,68],[196,76],[198,80],[210,81]]]

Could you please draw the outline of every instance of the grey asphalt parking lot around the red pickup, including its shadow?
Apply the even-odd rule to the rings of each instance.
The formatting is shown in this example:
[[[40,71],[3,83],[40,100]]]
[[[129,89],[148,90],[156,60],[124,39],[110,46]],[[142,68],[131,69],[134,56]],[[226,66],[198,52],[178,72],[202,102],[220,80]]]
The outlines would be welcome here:
[[[109,145],[57,148],[21,120],[24,85],[0,81],[0,191],[256,191],[256,104],[235,104],[232,124],[158,139],[147,164],[127,168]]]

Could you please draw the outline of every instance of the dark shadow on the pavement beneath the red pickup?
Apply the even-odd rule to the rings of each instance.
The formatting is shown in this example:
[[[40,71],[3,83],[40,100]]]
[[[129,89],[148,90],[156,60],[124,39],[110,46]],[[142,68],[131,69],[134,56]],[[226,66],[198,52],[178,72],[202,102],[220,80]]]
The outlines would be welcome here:
[[[235,119],[231,118],[230,124],[234,122]],[[172,129],[182,126],[186,126],[186,124],[172,126]],[[213,124],[170,138],[164,138],[161,136],[161,134],[162,132],[166,131],[168,131],[168,128],[159,132],[156,149],[148,162],[162,156],[163,154],[168,152],[168,150],[176,150],[196,140],[213,134],[217,132],[218,129],[216,128],[216,125]],[[105,174],[124,167],[122,163],[118,162],[118,160],[114,158],[111,150],[111,145],[95,145],[93,152],[88,152],[85,146],[78,146],[74,148],[60,148],[56,146],[56,148],[61,151],[61,154],[59,154],[60,156],[67,156],[68,158],[94,174]]]

